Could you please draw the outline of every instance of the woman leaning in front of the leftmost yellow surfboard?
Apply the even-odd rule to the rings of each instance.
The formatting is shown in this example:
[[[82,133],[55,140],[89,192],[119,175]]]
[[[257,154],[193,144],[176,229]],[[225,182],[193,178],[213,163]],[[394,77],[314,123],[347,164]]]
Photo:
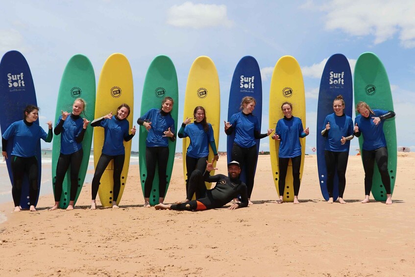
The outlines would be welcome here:
[[[117,205],[117,200],[121,189],[121,173],[122,168],[124,167],[125,159],[124,141],[130,141],[134,137],[136,131],[135,126],[133,126],[133,128],[130,130],[131,134],[128,132],[129,123],[127,117],[129,114],[130,106],[126,103],[123,103],[117,108],[116,115],[112,115],[112,112],[110,112],[109,114],[100,117],[91,123],[91,126],[93,127],[103,127],[105,132],[104,145],[102,146],[101,156],[99,157],[94,178],[92,179],[91,210],[95,210],[97,208],[95,199],[97,198],[99,182],[111,160],[114,160],[114,188],[112,207],[119,207]]]

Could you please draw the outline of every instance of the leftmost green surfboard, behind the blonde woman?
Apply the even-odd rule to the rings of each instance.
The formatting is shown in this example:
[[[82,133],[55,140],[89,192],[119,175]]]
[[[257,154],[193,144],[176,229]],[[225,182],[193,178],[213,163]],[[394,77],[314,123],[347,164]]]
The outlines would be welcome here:
[[[86,108],[81,113],[82,118],[89,121],[94,119],[95,114],[95,73],[90,60],[81,54],[74,55],[65,67],[59,87],[58,100],[56,102],[55,125],[58,122],[62,111],[72,112],[73,102],[82,98],[86,102]],[[89,156],[91,154],[93,127],[88,126],[84,139],[82,140],[83,158],[78,176],[78,190],[76,192],[75,203],[81,193],[88,169]],[[61,136],[55,135],[52,142],[52,180],[53,192],[55,190],[56,166],[61,149]],[[64,209],[69,205],[71,197],[71,166],[69,167],[62,184],[62,196],[59,207]]]

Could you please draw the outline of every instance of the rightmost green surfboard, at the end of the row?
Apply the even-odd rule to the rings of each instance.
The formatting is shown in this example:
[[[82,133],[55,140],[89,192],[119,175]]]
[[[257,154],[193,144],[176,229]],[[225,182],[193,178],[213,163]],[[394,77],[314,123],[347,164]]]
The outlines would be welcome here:
[[[354,71],[354,100],[366,102],[371,109],[393,111],[391,85],[388,74],[381,60],[374,53],[365,52],[356,61]],[[356,111],[356,115],[359,113]],[[383,125],[388,147],[388,170],[391,177],[391,192],[395,186],[397,144],[395,118],[385,121]],[[363,146],[363,135],[359,137],[360,151]],[[376,201],[386,201],[386,191],[382,184],[379,169],[375,162],[372,182],[372,195]]]

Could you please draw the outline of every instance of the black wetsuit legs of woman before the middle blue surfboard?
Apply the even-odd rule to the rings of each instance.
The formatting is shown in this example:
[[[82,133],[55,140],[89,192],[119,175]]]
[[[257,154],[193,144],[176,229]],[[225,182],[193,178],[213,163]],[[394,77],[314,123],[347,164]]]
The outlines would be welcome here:
[[[258,160],[256,145],[244,148],[234,143],[232,147],[232,160],[239,162],[241,169],[245,170],[248,198],[251,198],[252,190],[254,188],[255,166]]]

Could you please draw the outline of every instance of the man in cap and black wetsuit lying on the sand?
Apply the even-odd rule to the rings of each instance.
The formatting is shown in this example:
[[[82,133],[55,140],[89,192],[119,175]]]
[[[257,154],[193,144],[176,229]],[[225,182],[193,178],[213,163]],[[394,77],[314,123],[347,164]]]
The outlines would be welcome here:
[[[239,179],[241,168],[239,163],[232,161],[228,164],[228,176],[218,174],[210,176],[209,173],[217,168],[213,167],[212,163],[207,163],[206,171],[202,175],[201,171],[195,170],[190,176],[189,189],[187,192],[187,199],[183,202],[176,204],[157,204],[154,207],[156,210],[178,210],[178,211],[199,211],[220,208],[226,203],[232,201],[241,195],[241,202],[236,202],[229,207],[230,210],[237,208],[243,208],[248,206],[248,194],[246,185]],[[213,189],[207,190],[205,182],[216,182],[216,186]],[[205,197],[190,201],[195,191],[202,191],[205,193]],[[190,196],[190,197],[189,197]]]

